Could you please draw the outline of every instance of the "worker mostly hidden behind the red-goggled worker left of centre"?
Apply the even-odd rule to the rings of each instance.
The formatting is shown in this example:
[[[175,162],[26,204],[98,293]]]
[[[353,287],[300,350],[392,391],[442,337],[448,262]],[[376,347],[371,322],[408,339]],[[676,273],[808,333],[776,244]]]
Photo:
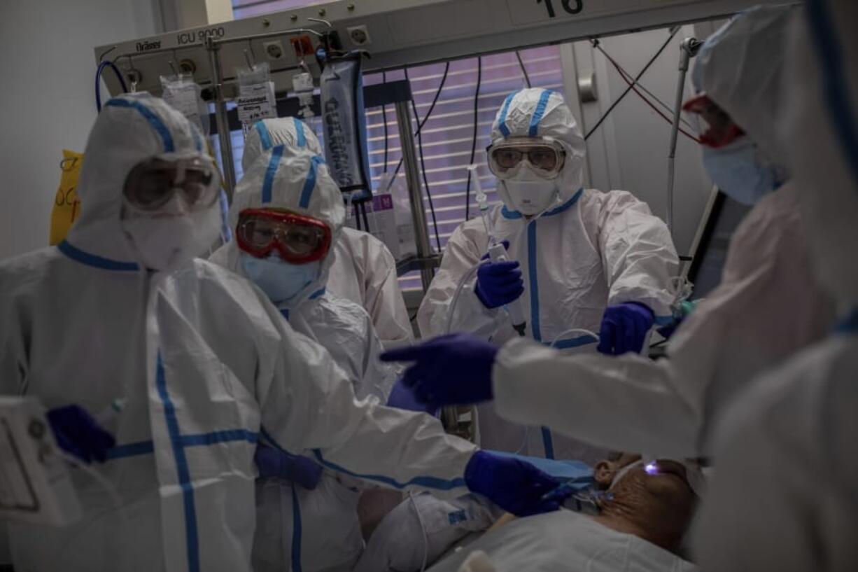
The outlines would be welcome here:
[[[245,140],[245,152],[241,156],[245,173],[264,151],[281,144],[286,145],[287,153],[323,156],[316,134],[300,119],[263,119],[253,125]],[[396,261],[384,242],[372,234],[344,226],[334,243],[334,253],[328,291],[364,307],[384,347],[395,347],[414,339],[396,277]]]

